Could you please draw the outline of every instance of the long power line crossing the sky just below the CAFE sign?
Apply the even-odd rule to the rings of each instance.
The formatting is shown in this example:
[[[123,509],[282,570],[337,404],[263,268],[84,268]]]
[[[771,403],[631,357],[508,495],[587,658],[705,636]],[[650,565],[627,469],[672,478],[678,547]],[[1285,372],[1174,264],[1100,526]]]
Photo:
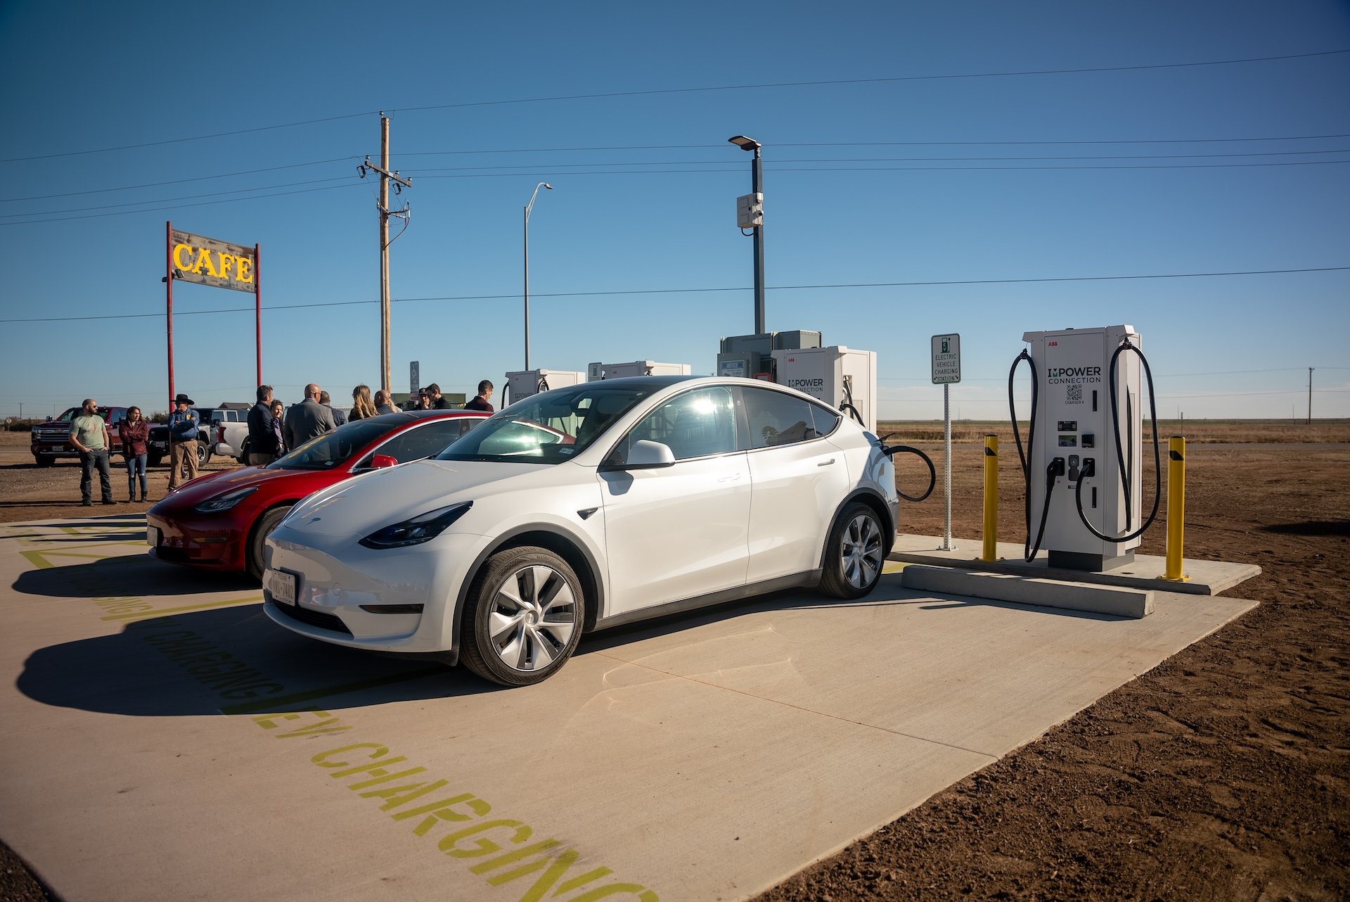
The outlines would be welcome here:
[[[949,281],[934,281],[934,282],[853,282],[853,284],[838,284],[838,285],[771,285],[768,286],[775,292],[790,292],[790,290],[818,290],[818,289],[844,289],[844,288],[926,288],[926,286],[941,286],[941,285],[1019,285],[1029,282],[1106,282],[1106,281],[1123,281],[1123,280],[1148,280],[1148,278],[1210,278],[1220,275],[1281,275],[1289,273],[1339,273],[1350,270],[1350,266],[1318,266],[1308,269],[1264,269],[1264,270],[1234,270],[1227,273],[1156,273],[1146,275],[1057,275],[1057,277],[1044,277],[1044,278],[980,278],[980,280],[949,280]],[[630,289],[622,292],[549,292],[549,293],[531,293],[531,297],[614,297],[614,296],[628,296],[628,294],[710,294],[716,292],[745,292],[747,288],[653,288],[653,289]],[[393,302],[396,304],[414,304],[425,301],[500,301],[500,300],[517,300],[520,294],[447,294],[436,297],[396,297]],[[356,304],[375,304],[375,301],[320,301],[316,304],[278,304],[274,307],[267,307],[269,311],[294,311],[294,309],[309,309],[316,307],[352,307]],[[193,316],[193,315],[207,315],[207,313],[239,313],[239,312],[254,312],[251,307],[235,307],[223,308],[215,311],[181,311],[178,316]],[[148,319],[158,317],[159,313],[105,313],[99,316],[43,316],[31,319],[0,319],[0,323],[73,323],[84,320],[135,320],[135,319]],[[1328,367],[1334,369],[1334,367]],[[1350,369],[1350,367],[1343,367]]]

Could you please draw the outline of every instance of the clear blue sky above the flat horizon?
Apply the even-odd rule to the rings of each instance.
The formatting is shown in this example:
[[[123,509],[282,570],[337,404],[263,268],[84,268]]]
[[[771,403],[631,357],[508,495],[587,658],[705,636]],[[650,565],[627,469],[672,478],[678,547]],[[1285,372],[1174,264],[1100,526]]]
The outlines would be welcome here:
[[[941,417],[934,334],[953,416],[996,419],[1023,331],[1116,323],[1160,416],[1301,419],[1308,367],[1314,416],[1350,416],[1343,0],[235,9],[0,4],[0,416],[166,409],[170,219],[262,246],[282,398],[377,386],[378,111],[413,180],[396,390],[521,369],[540,181],[532,366],[711,371],[753,331],[744,134],[767,325],[876,351],[883,417]],[[174,309],[176,388],[251,400],[251,294]]]

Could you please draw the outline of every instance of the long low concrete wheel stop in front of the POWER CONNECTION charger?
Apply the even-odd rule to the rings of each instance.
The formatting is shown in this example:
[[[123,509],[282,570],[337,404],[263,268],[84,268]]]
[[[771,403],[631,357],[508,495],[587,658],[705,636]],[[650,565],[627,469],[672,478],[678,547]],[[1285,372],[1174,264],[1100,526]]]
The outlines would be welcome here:
[[[900,585],[917,591],[941,595],[969,595],[1011,601],[1019,605],[1087,610],[1116,617],[1145,617],[1153,613],[1152,589],[1118,589],[1087,582],[1060,582],[1033,579],[1010,573],[979,573],[954,567],[909,564],[900,574]]]

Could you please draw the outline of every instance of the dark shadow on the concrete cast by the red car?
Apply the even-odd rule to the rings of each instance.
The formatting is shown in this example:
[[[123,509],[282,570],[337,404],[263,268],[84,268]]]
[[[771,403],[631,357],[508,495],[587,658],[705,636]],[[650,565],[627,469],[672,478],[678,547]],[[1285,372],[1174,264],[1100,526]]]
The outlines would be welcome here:
[[[144,539],[142,539],[144,541]],[[92,543],[86,543],[86,547]],[[26,570],[14,581],[14,590],[26,595],[54,598],[107,598],[111,595],[158,597],[197,595],[208,591],[256,591],[256,581],[239,573],[213,573],[155,560],[147,554],[101,558],[86,563],[78,560],[81,550],[28,548],[46,555],[53,567]]]

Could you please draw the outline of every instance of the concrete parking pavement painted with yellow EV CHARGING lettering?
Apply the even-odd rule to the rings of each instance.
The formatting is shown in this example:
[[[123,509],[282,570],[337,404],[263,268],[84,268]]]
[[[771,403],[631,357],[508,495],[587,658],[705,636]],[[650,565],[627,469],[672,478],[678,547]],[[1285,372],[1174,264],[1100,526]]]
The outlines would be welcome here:
[[[1256,604],[888,575],[599,633],[504,690],[294,636],[143,531],[0,528],[0,837],[69,902],[748,898]]]

